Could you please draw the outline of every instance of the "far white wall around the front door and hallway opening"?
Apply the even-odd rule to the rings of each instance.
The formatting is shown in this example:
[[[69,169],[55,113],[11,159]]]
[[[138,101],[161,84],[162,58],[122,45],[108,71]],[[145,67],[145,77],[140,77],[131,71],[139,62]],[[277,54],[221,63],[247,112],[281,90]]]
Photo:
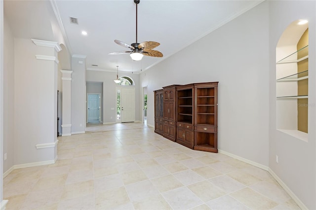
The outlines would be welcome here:
[[[86,80],[89,82],[103,82],[103,123],[115,123],[116,120],[116,86],[113,81],[116,79],[116,72],[87,70]],[[135,117],[136,121],[141,121],[140,115],[140,94],[139,90],[139,74],[129,72],[118,72],[118,76],[129,76],[135,82]],[[114,108],[114,109],[112,109]]]

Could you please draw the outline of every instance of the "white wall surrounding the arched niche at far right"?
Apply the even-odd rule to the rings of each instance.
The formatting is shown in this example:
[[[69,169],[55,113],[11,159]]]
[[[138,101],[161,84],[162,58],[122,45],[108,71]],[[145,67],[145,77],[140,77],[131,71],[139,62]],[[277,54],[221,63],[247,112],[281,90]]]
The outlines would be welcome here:
[[[270,121],[269,167],[301,200],[316,209],[316,1],[269,1]],[[287,26],[309,20],[309,134],[308,142],[276,130],[276,45]],[[276,163],[276,155],[279,162]]]

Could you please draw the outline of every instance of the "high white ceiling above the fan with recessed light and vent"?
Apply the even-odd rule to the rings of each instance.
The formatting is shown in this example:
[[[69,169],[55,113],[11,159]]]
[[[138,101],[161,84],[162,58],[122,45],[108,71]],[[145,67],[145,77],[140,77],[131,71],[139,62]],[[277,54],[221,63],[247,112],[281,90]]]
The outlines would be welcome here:
[[[115,39],[128,44],[136,39],[136,4],[133,0],[4,0],[4,15],[14,36],[45,37],[51,19],[61,20],[62,31],[72,55],[85,55],[89,70],[147,70],[192,44],[197,39],[251,9],[262,0],[140,0],[138,4],[138,43],[157,41],[162,58],[144,56],[132,61]],[[53,12],[55,9],[55,13]],[[78,25],[70,23],[78,18]],[[245,23],[246,24],[246,23]],[[53,31],[50,29],[50,31]],[[86,36],[81,35],[86,31]],[[93,67],[92,65],[98,65]]]

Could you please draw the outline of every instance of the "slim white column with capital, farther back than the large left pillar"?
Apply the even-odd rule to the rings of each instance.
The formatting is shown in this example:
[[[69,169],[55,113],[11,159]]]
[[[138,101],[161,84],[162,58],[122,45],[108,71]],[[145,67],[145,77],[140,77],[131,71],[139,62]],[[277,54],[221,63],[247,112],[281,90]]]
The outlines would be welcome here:
[[[62,136],[71,136],[71,74],[72,70],[60,70],[62,75]]]

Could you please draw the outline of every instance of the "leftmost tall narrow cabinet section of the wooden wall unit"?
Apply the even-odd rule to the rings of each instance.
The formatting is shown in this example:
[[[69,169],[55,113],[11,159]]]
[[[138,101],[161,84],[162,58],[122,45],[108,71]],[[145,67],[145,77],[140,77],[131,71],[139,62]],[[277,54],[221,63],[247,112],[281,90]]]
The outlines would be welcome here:
[[[163,90],[155,93],[155,133],[163,135]]]

